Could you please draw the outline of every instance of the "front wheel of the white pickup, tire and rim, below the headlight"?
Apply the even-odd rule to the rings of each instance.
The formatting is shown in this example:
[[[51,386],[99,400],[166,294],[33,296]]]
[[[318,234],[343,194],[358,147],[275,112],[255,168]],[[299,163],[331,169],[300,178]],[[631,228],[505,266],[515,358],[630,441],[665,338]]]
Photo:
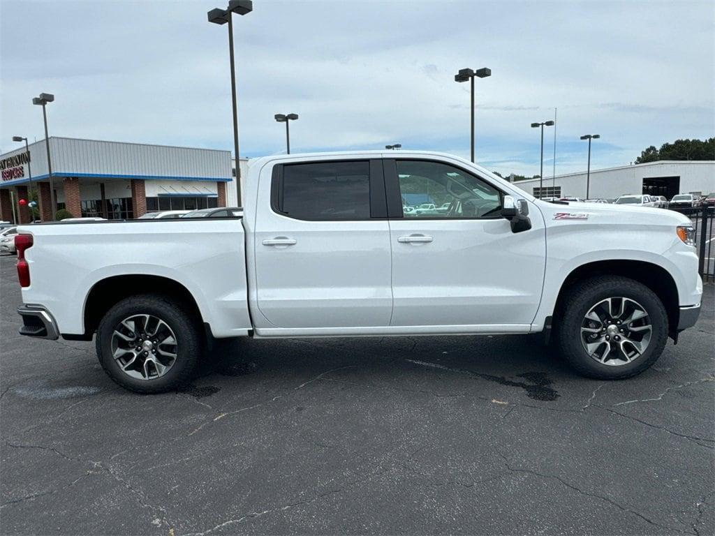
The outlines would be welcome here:
[[[633,279],[594,277],[563,299],[558,345],[580,374],[623,379],[660,357],[668,339],[668,314],[656,294]]]

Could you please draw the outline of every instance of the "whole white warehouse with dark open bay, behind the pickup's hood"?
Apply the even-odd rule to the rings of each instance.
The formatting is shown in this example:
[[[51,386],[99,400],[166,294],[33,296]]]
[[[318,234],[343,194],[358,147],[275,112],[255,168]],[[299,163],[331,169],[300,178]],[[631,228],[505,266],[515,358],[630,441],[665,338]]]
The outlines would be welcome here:
[[[663,160],[631,166],[591,169],[586,172],[544,177],[543,192],[539,179],[514,184],[535,197],[580,197],[616,199],[623,194],[664,195],[709,194],[715,191],[715,161]]]

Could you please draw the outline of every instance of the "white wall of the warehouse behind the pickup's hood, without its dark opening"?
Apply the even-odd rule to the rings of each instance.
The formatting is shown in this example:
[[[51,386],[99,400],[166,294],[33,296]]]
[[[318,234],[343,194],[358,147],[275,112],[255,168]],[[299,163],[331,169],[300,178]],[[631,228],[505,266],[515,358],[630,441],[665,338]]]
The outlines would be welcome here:
[[[623,194],[641,194],[643,179],[649,177],[680,177],[680,192],[715,191],[715,162],[712,161],[661,161],[610,169],[592,169],[588,197],[613,199]],[[528,194],[539,186],[539,179],[513,183]],[[561,195],[586,198],[586,172],[559,175],[555,179],[544,177],[544,187],[560,186]]]

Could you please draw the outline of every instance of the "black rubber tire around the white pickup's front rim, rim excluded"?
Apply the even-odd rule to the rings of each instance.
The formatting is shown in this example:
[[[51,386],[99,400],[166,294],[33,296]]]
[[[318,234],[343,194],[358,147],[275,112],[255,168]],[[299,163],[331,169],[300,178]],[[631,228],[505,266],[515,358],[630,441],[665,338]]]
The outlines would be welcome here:
[[[595,304],[609,297],[633,299],[649,317],[651,339],[640,356],[617,366],[603,364],[591,357],[581,341],[584,317]],[[625,379],[640,374],[661,356],[668,339],[668,314],[656,294],[628,277],[603,276],[579,281],[561,300],[556,322],[556,343],[563,357],[579,374],[596,379]]]

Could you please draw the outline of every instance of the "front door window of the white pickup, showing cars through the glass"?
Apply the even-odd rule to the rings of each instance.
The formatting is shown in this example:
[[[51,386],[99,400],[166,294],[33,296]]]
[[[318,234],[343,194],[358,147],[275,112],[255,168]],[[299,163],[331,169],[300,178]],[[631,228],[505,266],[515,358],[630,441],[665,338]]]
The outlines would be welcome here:
[[[501,212],[501,192],[441,162],[398,160],[405,218],[488,218]]]

